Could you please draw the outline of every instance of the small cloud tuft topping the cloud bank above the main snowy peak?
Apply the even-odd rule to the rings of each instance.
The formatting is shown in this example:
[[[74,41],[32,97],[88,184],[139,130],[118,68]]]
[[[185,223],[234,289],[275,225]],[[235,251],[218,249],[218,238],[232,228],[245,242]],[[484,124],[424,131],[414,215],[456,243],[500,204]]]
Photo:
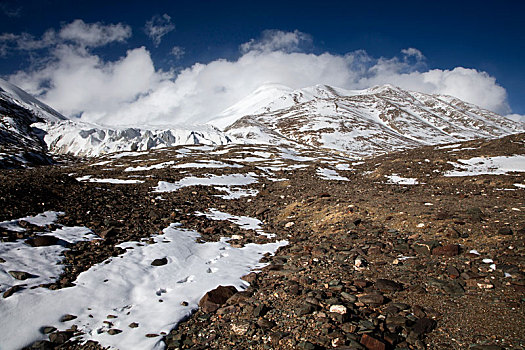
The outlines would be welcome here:
[[[262,32],[258,40],[251,39],[240,46],[242,53],[250,51],[270,52],[284,51],[294,52],[302,46],[310,44],[312,37],[308,34],[294,30],[293,32],[284,32],[281,30],[271,29]]]

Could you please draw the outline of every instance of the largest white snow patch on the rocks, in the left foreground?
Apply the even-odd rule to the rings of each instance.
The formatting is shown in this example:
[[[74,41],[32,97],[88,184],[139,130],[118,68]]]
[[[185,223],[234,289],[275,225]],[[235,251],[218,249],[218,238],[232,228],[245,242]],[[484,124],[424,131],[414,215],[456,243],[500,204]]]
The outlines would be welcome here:
[[[44,339],[42,326],[64,329],[73,325],[85,333],[80,336],[82,341],[95,340],[119,349],[164,348],[162,336],[146,334],[168,333],[198,307],[207,291],[219,285],[246,288],[241,277],[263,267],[258,261],[264,254],[287,244],[233,248],[227,239],[200,244],[198,237],[195,231],[171,225],[154,237],[155,244],[121,244],[126,253],[82,272],[74,287],[15,293],[0,303],[2,349],[19,349]],[[166,258],[167,264],[152,266],[158,258]],[[66,314],[77,318],[60,322]],[[104,321],[111,321],[112,326]],[[131,323],[138,327],[129,327]],[[111,335],[110,329],[121,332]]]

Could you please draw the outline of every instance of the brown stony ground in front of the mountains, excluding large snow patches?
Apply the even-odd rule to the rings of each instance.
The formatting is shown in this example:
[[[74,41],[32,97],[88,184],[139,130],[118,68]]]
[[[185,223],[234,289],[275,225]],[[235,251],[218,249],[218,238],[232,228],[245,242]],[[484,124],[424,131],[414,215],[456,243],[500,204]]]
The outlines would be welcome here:
[[[147,243],[170,223],[203,242],[231,237],[234,247],[288,241],[244,277],[247,289],[210,291],[176,329],[144,335],[168,349],[525,348],[524,173],[492,166],[468,174],[462,161],[523,157],[525,134],[359,161],[261,145],[121,155],[0,172],[0,221],[62,211],[57,224],[103,238],[70,245],[62,275],[41,287],[73,286],[122,255],[118,244]],[[455,171],[470,176],[446,176]],[[242,190],[183,186],[226,175],[256,181]],[[162,191],[162,182],[178,187]],[[202,215],[212,208],[257,218],[275,236]],[[53,244],[36,242],[41,228],[21,225],[0,229],[2,241]],[[6,300],[24,289],[1,287]],[[109,316],[108,334],[122,332]],[[78,341],[74,318],[43,328],[49,340],[29,348],[102,348]]]

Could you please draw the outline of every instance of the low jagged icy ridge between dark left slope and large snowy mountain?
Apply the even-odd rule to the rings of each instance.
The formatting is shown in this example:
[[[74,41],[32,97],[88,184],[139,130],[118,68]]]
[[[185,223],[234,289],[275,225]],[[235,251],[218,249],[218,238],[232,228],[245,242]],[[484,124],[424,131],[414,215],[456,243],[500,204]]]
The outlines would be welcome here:
[[[109,127],[76,121],[36,123],[54,154],[94,157],[188,144],[224,145],[231,140],[211,125],[191,127]]]

